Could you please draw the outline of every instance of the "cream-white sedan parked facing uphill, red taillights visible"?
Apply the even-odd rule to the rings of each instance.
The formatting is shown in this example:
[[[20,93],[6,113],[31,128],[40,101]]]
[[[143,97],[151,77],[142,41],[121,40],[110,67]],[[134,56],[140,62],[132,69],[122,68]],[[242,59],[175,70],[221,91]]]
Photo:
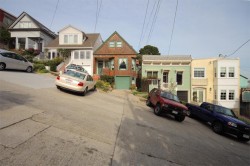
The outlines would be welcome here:
[[[85,95],[89,90],[96,89],[96,82],[91,75],[81,71],[67,70],[56,78],[58,89],[65,89]]]

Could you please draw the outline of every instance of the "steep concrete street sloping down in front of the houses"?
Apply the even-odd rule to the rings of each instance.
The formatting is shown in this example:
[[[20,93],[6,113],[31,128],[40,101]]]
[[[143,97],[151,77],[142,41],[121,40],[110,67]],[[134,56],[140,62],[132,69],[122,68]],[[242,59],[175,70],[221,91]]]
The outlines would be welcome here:
[[[129,91],[58,90],[55,77],[0,72],[0,165],[250,165],[250,142],[158,117]]]

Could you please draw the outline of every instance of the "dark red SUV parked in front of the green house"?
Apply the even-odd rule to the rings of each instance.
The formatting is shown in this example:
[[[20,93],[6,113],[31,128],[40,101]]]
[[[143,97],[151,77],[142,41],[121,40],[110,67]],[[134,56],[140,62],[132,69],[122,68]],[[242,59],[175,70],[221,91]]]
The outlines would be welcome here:
[[[176,95],[156,88],[150,91],[146,105],[154,107],[155,115],[160,116],[164,111],[173,115],[179,122],[185,119],[188,110],[185,105],[180,103]]]

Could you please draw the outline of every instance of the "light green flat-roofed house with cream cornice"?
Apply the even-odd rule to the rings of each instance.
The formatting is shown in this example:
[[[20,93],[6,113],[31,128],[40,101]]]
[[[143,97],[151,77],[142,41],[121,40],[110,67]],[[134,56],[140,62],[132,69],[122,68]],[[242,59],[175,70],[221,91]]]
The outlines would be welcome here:
[[[142,79],[148,79],[149,91],[160,87],[189,102],[191,87],[191,55],[143,55]]]

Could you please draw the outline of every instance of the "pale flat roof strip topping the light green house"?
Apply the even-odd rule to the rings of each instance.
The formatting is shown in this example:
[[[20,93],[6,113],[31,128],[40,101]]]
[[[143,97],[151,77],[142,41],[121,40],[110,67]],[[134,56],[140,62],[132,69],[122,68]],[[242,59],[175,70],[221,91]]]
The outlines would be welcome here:
[[[191,55],[143,55],[142,60],[192,60]]]

